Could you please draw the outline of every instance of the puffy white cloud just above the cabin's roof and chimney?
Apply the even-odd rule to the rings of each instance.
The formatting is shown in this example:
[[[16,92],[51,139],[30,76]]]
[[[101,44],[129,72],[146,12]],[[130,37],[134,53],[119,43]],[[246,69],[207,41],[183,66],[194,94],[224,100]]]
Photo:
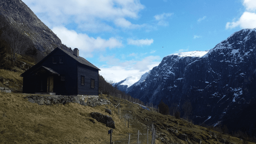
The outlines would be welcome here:
[[[108,40],[100,37],[93,38],[87,34],[78,34],[74,30],[68,30],[64,26],[54,27],[52,31],[60,38],[62,43],[71,48],[78,48],[84,57],[92,57],[93,51],[104,51],[106,48],[118,48],[122,46],[122,41],[116,38],[109,38]],[[82,55],[81,55],[82,56]]]

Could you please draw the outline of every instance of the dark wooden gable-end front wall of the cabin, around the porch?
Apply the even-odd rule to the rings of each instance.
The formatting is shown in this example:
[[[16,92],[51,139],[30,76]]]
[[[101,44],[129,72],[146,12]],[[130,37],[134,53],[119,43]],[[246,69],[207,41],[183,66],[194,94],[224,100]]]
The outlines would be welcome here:
[[[63,56],[64,62],[59,63],[59,56]],[[53,64],[52,58],[57,57],[56,64]],[[54,53],[48,56],[48,58],[44,59],[40,64],[34,66],[30,72],[36,70],[40,66],[46,66],[51,68],[52,70],[58,72],[58,74],[65,76],[64,81],[60,81],[60,76],[54,76],[54,92],[57,95],[75,95],[77,94],[77,62],[66,53],[61,50],[56,50]],[[35,93],[38,87],[38,81],[35,78],[24,76],[23,77],[23,92],[24,93]],[[47,79],[46,79],[47,80]],[[35,87],[36,86],[36,87]],[[30,87],[35,87],[34,89]]]

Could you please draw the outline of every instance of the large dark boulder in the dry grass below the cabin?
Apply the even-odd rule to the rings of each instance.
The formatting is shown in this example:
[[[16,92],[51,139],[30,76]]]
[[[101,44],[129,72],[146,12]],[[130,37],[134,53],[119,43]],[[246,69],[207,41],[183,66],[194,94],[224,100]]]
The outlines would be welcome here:
[[[92,118],[96,119],[98,122],[106,124],[106,126],[110,128],[115,128],[115,122],[110,116],[101,114],[99,112],[91,112],[90,116],[92,116]]]

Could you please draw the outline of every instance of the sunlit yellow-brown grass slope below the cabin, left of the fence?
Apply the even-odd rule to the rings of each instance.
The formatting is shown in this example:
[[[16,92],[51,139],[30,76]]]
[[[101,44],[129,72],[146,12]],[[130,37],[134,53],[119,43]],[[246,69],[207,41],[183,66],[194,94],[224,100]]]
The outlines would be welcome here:
[[[105,112],[105,106],[89,107],[68,103],[53,106],[40,106],[28,102],[23,94],[0,93],[0,143],[6,144],[107,144],[110,135],[105,124],[93,124],[90,112]],[[121,139],[129,132],[118,118],[114,106],[112,110],[116,124],[113,140]]]

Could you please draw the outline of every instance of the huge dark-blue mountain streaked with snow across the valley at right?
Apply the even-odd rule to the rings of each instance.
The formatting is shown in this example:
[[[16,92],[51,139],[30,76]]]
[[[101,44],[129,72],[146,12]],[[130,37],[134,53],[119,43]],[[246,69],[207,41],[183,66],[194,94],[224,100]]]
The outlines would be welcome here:
[[[256,29],[243,29],[203,56],[166,56],[129,94],[154,105],[160,100],[168,106],[174,103],[180,110],[190,100],[196,124],[226,125],[230,132],[255,136],[255,46]]]

